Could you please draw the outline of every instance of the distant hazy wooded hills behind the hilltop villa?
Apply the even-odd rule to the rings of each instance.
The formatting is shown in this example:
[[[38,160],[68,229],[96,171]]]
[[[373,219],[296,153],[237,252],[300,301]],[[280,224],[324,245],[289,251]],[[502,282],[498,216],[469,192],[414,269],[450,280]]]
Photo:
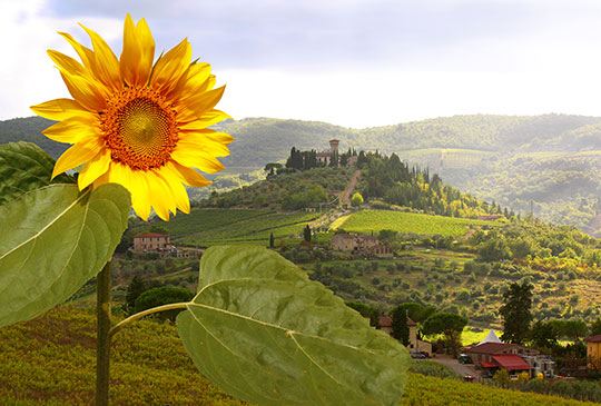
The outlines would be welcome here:
[[[0,142],[30,140],[52,157],[66,146],[40,135],[51,121],[23,118],[0,121]],[[569,115],[454,116],[366,129],[325,122],[248,118],[217,129],[231,133],[231,155],[223,158],[219,177],[247,174],[284,159],[290,148],[326,149],[332,138],[341,150],[396,152],[401,159],[430,168],[443,180],[522,214],[570,224],[599,235],[601,214],[601,118]],[[247,176],[221,179],[210,190],[247,185]],[[252,180],[256,180],[254,175]]]

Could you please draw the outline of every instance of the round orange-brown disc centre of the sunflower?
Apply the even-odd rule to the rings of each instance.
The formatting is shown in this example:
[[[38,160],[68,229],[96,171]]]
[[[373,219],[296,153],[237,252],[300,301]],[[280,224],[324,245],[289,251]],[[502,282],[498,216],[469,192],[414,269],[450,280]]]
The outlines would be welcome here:
[[[178,140],[174,110],[148,88],[115,95],[101,117],[111,159],[131,169],[161,167]]]

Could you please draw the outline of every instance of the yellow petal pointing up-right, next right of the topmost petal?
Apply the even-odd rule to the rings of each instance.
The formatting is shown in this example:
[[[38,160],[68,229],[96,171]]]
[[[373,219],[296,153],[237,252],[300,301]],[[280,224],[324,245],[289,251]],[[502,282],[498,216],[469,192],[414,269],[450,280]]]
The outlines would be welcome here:
[[[169,92],[191,61],[191,47],[188,39],[179,42],[165,53],[155,65],[150,86],[159,91]]]

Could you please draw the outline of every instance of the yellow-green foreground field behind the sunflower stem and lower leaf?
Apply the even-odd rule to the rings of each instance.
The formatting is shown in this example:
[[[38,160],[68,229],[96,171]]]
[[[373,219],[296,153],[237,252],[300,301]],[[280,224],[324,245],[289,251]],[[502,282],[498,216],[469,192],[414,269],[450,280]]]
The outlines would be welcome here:
[[[0,329],[0,404],[90,405],[95,319],[92,309],[69,306]],[[111,404],[244,404],[225,395],[196,370],[170,324],[141,320],[127,326],[116,335],[111,357]],[[474,404],[592,405],[411,373],[401,402]]]

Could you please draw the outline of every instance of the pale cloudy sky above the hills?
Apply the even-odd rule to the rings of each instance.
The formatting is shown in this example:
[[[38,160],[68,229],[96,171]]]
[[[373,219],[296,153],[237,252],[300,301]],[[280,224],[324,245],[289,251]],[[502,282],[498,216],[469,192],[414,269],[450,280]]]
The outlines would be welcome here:
[[[0,120],[69,97],[47,56],[121,52],[126,13],[157,55],[188,38],[227,85],[218,108],[365,128],[454,115],[601,116],[601,1],[0,0]]]

